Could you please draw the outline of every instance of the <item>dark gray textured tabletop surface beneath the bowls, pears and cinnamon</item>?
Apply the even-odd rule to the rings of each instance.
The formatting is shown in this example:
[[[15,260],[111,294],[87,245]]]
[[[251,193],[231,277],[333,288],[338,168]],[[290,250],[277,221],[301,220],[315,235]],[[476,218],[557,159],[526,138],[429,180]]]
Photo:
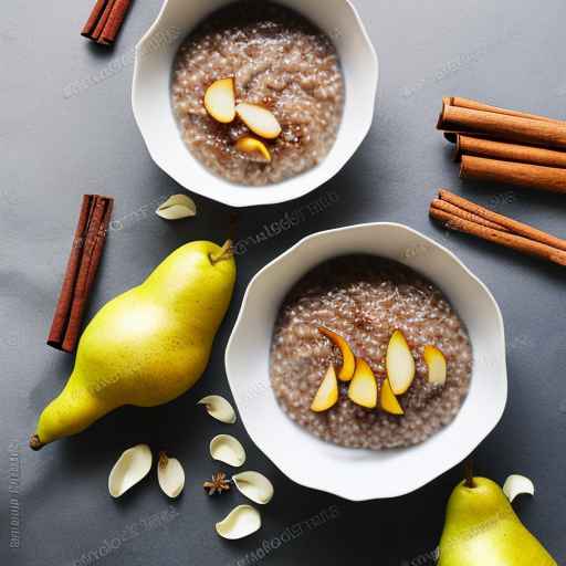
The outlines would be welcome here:
[[[512,0],[357,0],[381,64],[371,133],[347,167],[317,192],[243,211],[239,235],[258,234],[264,222],[328,191],[336,191],[339,202],[305,213],[301,226],[251,245],[239,258],[232,308],[195,390],[166,407],[120,410],[77,438],[32,453],[28,434],[72,365],[71,356],[48,348],[44,340],[81,195],[115,196],[114,219],[120,221],[107,242],[91,315],[182,242],[222,240],[229,217],[229,209],[202,198],[196,198],[200,213],[195,220],[167,223],[151,213],[161,197],[179,187],[151,163],[134,123],[129,53],[159,1],[136,2],[111,52],[78,35],[92,3],[6,2],[0,21],[0,563],[60,566],[91,553],[91,564],[237,564],[263,539],[335,505],[335,518],[319,526],[303,523],[303,533],[284,536],[265,563],[342,565],[355,557],[360,565],[431,564],[427,553],[438,542],[459,470],[399,500],[352,504],[292,484],[238,424],[250,468],[264,471],[276,486],[261,533],[238,543],[219,539],[212,524],[239,497],[208,500],[200,488],[217,469],[206,447],[221,427],[193,403],[205,392],[228,390],[222,352],[251,275],[305,234],[374,220],[405,222],[443,242],[497,298],[507,333],[510,397],[500,426],[478,450],[478,472],[499,481],[513,472],[531,476],[537,494],[518,501],[516,509],[558,562],[566,560],[564,270],[447,234],[426,212],[434,189],[446,186],[565,234],[564,199],[462,184],[433,127],[440,98],[449,94],[563,116],[564,2],[546,0],[542,8]],[[99,81],[113,62],[113,76]],[[90,86],[69,96],[65,88],[85,80],[81,84]],[[115,458],[136,442],[167,448],[186,463],[186,491],[165,518],[155,518],[168,502],[153,475],[120,501],[107,495]],[[10,497],[19,505],[12,512],[20,518],[18,549],[9,548]],[[124,541],[115,538],[125,532]],[[115,548],[106,554],[105,541],[113,539]]]

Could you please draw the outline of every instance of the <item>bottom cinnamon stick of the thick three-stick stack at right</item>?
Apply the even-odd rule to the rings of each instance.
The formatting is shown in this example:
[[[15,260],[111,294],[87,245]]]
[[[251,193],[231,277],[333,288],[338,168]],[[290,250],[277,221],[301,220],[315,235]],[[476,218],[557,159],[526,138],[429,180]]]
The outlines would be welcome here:
[[[460,178],[517,185],[551,192],[566,192],[566,169],[470,155],[461,157]]]

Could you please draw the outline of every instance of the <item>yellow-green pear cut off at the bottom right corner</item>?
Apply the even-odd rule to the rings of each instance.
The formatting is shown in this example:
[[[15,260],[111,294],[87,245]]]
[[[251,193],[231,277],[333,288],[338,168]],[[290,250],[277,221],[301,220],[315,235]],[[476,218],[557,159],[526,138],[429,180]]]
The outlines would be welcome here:
[[[526,530],[503,490],[485,478],[463,481],[448,501],[438,566],[557,566]]]

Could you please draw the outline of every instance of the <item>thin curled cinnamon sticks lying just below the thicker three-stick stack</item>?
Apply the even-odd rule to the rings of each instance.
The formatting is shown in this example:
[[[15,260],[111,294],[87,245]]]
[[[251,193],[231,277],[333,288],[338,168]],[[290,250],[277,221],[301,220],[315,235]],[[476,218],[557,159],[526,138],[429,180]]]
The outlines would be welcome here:
[[[440,189],[429,213],[450,230],[566,265],[566,240],[480,207],[449,190]]]

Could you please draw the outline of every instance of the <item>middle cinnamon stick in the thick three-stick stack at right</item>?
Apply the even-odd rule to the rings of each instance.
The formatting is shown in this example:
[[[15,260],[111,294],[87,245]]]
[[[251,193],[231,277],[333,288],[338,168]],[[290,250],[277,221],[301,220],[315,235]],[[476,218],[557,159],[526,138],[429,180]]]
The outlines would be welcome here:
[[[459,160],[462,155],[566,168],[565,151],[457,134],[454,159]]]

